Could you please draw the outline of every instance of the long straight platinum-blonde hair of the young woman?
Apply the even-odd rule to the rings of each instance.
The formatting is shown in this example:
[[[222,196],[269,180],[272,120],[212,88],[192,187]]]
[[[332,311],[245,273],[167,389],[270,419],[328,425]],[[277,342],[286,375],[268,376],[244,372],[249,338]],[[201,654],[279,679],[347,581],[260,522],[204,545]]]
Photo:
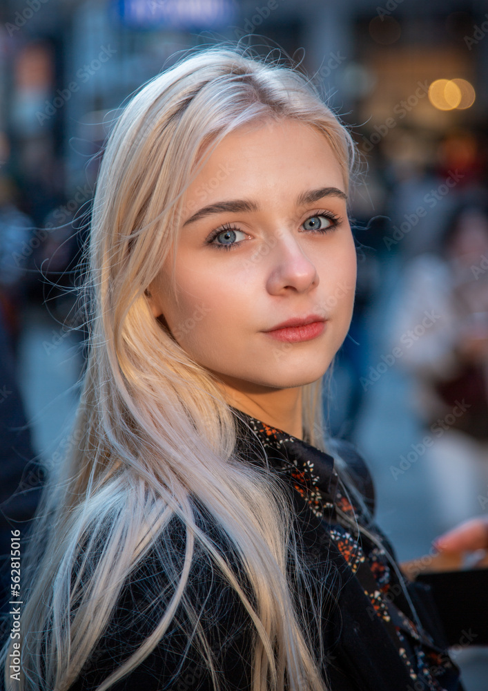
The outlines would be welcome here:
[[[219,688],[184,598],[196,545],[253,621],[253,691],[326,688],[286,576],[290,553],[300,569],[289,499],[271,473],[235,458],[235,419],[221,388],[154,318],[146,296],[177,241],[188,211],[184,191],[205,156],[227,133],[264,118],[318,129],[347,183],[351,137],[313,86],[296,70],[237,48],[199,50],[152,79],[110,134],[92,213],[90,343],[76,443],[52,473],[39,511],[21,618],[23,674],[12,681],[6,669],[8,690],[69,688],[130,572],[169,540],[175,517],[186,529],[175,593],[153,634],[99,691],[141,663],[179,605],[195,621]],[[304,387],[303,401],[307,438],[322,446],[320,383]],[[252,597],[199,527],[195,500],[240,557]],[[167,567],[168,574],[176,568]],[[10,650],[6,645],[4,660]]]

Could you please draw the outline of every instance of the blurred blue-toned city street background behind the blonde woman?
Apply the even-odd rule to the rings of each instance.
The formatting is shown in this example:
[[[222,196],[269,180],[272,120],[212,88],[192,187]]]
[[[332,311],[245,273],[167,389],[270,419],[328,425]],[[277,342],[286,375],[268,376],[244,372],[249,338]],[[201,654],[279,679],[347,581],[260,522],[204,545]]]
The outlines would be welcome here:
[[[110,124],[215,41],[281,49],[358,144],[358,293],[324,406],[371,468],[399,559],[488,511],[487,36],[482,0],[2,0],[3,512],[28,518],[72,443],[81,251]],[[26,497],[8,502],[22,474]],[[453,656],[466,690],[486,691],[488,651]]]

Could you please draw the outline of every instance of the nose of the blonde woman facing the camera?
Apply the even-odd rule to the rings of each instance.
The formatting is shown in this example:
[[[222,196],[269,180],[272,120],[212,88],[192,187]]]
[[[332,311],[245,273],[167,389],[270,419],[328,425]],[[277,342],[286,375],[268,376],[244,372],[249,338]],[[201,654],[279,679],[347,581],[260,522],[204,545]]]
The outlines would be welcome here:
[[[287,292],[304,293],[316,287],[319,276],[314,263],[304,254],[297,238],[281,234],[272,255],[272,266],[266,281],[271,295]]]

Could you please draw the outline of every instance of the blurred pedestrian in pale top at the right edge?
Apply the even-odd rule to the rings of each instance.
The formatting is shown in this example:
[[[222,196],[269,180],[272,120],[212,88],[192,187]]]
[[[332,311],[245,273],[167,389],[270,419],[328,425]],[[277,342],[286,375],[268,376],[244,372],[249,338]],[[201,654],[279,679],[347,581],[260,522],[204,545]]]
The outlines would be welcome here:
[[[392,310],[392,340],[413,375],[428,437],[424,462],[446,529],[479,510],[479,488],[488,482],[487,258],[488,210],[465,202],[439,253],[407,263]]]

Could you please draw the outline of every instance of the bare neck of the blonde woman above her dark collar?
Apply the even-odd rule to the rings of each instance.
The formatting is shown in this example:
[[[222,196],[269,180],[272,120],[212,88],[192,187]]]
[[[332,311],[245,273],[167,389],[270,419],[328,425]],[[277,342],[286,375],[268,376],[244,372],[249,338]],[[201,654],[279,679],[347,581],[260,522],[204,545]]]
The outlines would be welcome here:
[[[222,382],[228,403],[265,424],[303,438],[302,387],[260,388],[226,379]],[[237,388],[237,384],[239,384]]]

